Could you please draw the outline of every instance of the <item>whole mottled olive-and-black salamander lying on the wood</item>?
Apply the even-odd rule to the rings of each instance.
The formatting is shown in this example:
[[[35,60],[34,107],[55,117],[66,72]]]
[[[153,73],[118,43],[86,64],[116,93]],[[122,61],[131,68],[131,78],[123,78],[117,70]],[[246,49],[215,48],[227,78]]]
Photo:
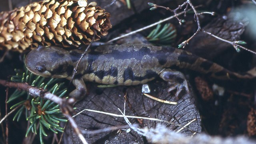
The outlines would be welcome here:
[[[27,55],[25,64],[34,74],[70,80],[82,53],[81,50],[40,46]],[[230,72],[216,63],[172,47],[102,45],[91,48],[82,58],[73,80],[76,90],[70,95],[75,98],[84,96],[84,81],[128,86],[144,84],[158,76],[172,85],[169,91],[177,89],[176,96],[184,88],[188,92],[184,75],[171,70],[172,66],[189,68],[218,79],[253,78],[256,75],[255,69],[244,74]]]

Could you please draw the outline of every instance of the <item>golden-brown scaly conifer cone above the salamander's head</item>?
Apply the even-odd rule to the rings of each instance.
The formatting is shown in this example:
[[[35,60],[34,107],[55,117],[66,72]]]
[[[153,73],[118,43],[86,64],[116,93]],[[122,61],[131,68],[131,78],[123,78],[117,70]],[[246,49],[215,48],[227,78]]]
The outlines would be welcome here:
[[[108,34],[110,14],[87,0],[44,0],[0,13],[0,49],[89,44]]]

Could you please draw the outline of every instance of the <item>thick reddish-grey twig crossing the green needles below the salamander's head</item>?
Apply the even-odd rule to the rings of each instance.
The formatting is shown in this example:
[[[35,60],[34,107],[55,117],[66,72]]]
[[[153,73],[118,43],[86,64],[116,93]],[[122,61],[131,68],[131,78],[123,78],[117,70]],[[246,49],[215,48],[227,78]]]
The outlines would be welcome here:
[[[71,105],[74,104],[74,102],[75,102],[74,98],[69,98],[69,99],[64,98],[64,99],[62,99],[62,98],[56,96],[55,94],[51,94],[50,92],[46,92],[43,89],[39,89],[39,88],[36,88],[34,86],[30,86],[26,83],[7,82],[6,80],[0,80],[0,84],[3,85],[3,86],[10,87],[10,88],[18,88],[20,90],[26,90],[32,96],[37,96],[37,97],[40,96],[42,98],[46,98],[48,100],[51,100],[51,101],[59,104],[60,105],[60,110],[62,111],[63,115],[68,118],[72,128],[74,128],[74,131],[76,132],[76,134],[78,135],[80,140],[83,142],[83,144],[88,144],[86,142],[85,138],[82,136],[82,133],[79,130],[76,122],[74,121],[74,119],[70,115],[70,113],[73,110]]]

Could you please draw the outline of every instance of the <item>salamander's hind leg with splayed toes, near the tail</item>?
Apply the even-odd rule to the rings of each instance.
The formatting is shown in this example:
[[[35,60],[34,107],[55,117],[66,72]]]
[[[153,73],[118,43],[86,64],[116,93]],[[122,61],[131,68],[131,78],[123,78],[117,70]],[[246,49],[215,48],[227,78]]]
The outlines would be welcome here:
[[[189,92],[187,80],[184,74],[182,74],[179,71],[174,71],[171,69],[163,70],[160,73],[160,78],[162,78],[163,80],[168,82],[168,84],[171,85],[171,87],[168,89],[168,92],[171,92],[172,90],[175,90],[175,89],[177,90],[176,92],[177,98],[180,92],[184,90],[184,88],[187,93]]]

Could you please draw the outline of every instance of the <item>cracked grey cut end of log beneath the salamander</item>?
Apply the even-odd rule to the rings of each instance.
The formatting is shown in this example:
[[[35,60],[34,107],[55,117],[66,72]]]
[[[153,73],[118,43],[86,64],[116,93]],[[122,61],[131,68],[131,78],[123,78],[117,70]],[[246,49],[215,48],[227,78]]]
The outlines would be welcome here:
[[[194,97],[191,94],[182,94],[180,99],[174,96],[174,93],[168,93],[168,85],[166,82],[150,83],[152,94],[162,100],[178,102],[177,105],[170,105],[157,102],[146,96],[142,95],[141,85],[139,86],[118,86],[114,88],[96,88],[96,84],[89,84],[90,94],[84,98],[84,100],[78,102],[75,107],[76,112],[80,112],[84,109],[98,110],[102,112],[109,112],[114,114],[120,114],[118,108],[122,111],[124,109],[124,95],[127,92],[126,102],[126,115],[128,116],[142,116],[147,118],[158,118],[160,120],[166,120],[179,125],[186,125],[188,122],[196,118],[196,121],[192,122],[188,126],[188,129],[183,129],[181,133],[191,136],[194,132],[201,132],[201,120],[199,112],[195,106]],[[127,88],[127,89],[126,89]],[[126,90],[125,90],[126,89]],[[101,93],[102,92],[102,93]],[[98,93],[98,94],[97,94]],[[101,93],[101,94],[99,94]],[[164,122],[156,122],[152,120],[137,120],[128,118],[132,124],[138,124],[140,128],[155,128],[156,124],[163,124],[170,130],[179,130],[181,127],[175,124],[167,124]],[[98,130],[101,128],[108,128],[111,126],[123,126],[127,125],[124,118],[114,117],[105,114],[98,114],[95,112],[84,111],[75,117],[78,126],[81,130]],[[137,134],[134,130],[129,133],[122,130],[121,132],[110,131],[99,134],[85,134],[86,140],[89,143],[147,143],[146,138]],[[64,143],[77,144],[79,139],[70,128],[66,128],[64,135]],[[71,139],[70,139],[71,138]]]

